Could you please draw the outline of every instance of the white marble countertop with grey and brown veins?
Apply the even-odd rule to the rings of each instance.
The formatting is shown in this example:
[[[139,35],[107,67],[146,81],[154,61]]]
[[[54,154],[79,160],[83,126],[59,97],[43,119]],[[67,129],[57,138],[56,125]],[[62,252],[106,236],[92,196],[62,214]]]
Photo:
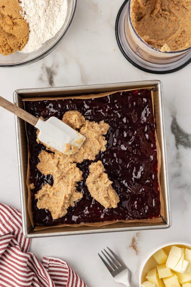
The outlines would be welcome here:
[[[133,67],[119,51],[115,18],[123,0],[78,0],[76,14],[64,40],[47,57],[28,66],[0,68],[1,95],[13,100],[18,88],[72,86],[137,80],[161,80],[164,85],[165,125],[172,207],[172,227],[165,230],[122,232],[32,239],[30,251],[66,260],[89,287],[120,286],[97,253],[106,245],[121,256],[138,286],[140,263],[151,249],[166,242],[191,243],[191,64],[173,74],[148,74]],[[182,130],[171,132],[172,118]],[[186,141],[185,141],[186,140]],[[14,116],[0,109],[0,201],[20,210]],[[133,237],[137,253],[131,247]]]

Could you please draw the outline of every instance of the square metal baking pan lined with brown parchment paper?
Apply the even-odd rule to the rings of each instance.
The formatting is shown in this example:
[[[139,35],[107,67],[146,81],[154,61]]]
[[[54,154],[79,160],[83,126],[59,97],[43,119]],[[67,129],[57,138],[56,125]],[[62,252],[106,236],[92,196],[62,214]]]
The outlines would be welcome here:
[[[60,235],[73,235],[73,234],[86,234],[86,233],[102,233],[102,232],[116,232],[127,230],[143,230],[143,229],[159,229],[168,228],[171,226],[171,210],[170,210],[170,196],[168,185],[168,172],[167,172],[167,152],[166,152],[166,139],[164,129],[164,108],[163,108],[163,88],[161,81],[141,81],[141,82],[127,82],[127,83],[114,83],[114,84],[101,84],[90,86],[71,86],[71,87],[59,87],[59,88],[36,88],[36,89],[21,89],[16,90],[13,94],[14,103],[24,108],[23,98],[29,97],[63,97],[81,94],[101,93],[106,91],[120,91],[127,89],[138,89],[154,87],[154,109],[155,109],[155,122],[156,131],[158,136],[158,142],[161,148],[161,193],[164,200],[164,217],[162,222],[115,222],[102,227],[60,227],[60,228],[47,228],[44,230],[35,231],[28,213],[27,200],[27,137],[25,131],[24,120],[15,116],[16,121],[16,140],[19,162],[19,182],[21,192],[21,210],[22,210],[22,222],[23,233],[28,238],[43,237],[43,236],[60,236]],[[152,220],[151,220],[152,221]]]

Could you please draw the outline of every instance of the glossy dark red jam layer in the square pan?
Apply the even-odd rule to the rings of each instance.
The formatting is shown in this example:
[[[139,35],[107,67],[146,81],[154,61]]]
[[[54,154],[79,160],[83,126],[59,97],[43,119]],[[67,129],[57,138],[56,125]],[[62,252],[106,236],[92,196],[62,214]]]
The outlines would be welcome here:
[[[108,220],[150,219],[160,214],[160,199],[157,175],[157,149],[151,92],[136,90],[118,92],[107,97],[90,100],[41,100],[25,102],[26,111],[35,117],[48,119],[51,116],[62,119],[68,110],[78,110],[90,121],[104,120],[110,125],[107,132],[107,149],[96,156],[101,160],[118,193],[117,208],[105,209],[90,196],[86,186],[89,165],[84,160],[77,164],[83,171],[83,181],[77,190],[83,198],[68,213],[56,220],[49,210],[36,207],[35,193],[46,184],[53,184],[51,175],[44,176],[38,171],[38,154],[45,149],[36,142],[36,128],[27,124],[30,152],[30,183],[32,192],[33,219],[45,226]]]

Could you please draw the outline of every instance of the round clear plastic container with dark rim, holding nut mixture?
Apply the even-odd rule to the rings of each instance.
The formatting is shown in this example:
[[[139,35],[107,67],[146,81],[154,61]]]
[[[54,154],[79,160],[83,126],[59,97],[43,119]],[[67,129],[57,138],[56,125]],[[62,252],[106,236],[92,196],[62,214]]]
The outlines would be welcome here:
[[[187,65],[191,60],[191,47],[161,52],[141,39],[131,20],[130,5],[131,0],[124,2],[116,20],[116,36],[124,56],[138,68],[153,73],[169,73]]]

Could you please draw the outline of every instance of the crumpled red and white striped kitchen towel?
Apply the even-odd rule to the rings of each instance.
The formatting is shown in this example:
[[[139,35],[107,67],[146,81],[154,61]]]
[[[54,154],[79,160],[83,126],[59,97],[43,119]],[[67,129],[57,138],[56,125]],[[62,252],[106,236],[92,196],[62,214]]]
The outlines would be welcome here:
[[[87,287],[61,259],[38,258],[27,252],[30,239],[22,233],[21,213],[0,203],[0,286]]]

